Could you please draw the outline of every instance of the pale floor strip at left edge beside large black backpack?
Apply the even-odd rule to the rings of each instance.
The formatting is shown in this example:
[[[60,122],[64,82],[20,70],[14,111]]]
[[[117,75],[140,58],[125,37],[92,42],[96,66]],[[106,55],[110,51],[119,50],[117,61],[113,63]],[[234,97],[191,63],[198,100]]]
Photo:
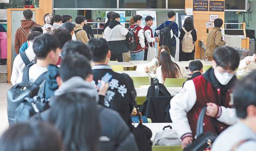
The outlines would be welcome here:
[[[0,83],[0,135],[6,130],[7,119],[7,90],[11,88],[11,83]]]

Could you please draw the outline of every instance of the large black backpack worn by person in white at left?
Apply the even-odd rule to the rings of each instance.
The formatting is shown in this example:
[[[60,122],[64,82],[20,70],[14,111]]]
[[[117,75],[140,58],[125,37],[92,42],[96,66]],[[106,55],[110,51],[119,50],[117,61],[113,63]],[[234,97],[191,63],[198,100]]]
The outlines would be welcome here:
[[[28,64],[23,73],[22,82],[17,83],[7,91],[7,115],[9,125],[19,121],[28,120],[35,113],[47,108],[45,103],[35,97],[38,94],[39,86],[44,81],[47,72],[42,73],[37,80],[29,81],[28,71],[34,63]],[[47,103],[48,104],[48,103]]]

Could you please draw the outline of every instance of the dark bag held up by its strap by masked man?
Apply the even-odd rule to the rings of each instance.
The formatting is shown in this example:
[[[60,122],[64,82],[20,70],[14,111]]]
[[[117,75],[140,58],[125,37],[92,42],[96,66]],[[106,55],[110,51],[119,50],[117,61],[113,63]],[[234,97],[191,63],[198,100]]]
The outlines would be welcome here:
[[[183,151],[204,151],[212,147],[213,141],[217,138],[212,132],[203,133],[203,119],[206,106],[201,110],[196,125],[196,140],[186,146]]]

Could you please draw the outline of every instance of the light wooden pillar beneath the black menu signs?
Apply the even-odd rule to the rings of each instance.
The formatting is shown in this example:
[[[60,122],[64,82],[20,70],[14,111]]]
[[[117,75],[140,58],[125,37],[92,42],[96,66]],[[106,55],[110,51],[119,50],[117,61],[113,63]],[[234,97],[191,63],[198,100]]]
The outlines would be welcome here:
[[[209,4],[211,0],[208,0]],[[225,0],[215,0],[215,1],[225,1]],[[186,8],[192,8],[193,9],[193,0],[185,0],[185,9]],[[201,47],[199,46],[199,41],[203,40],[204,44],[206,45],[207,42],[207,27],[206,22],[210,22],[210,15],[218,15],[218,18],[221,18],[223,20],[223,26],[224,27],[224,11],[193,11],[193,18],[194,18],[194,26],[196,28],[197,33],[197,41],[196,41],[196,52],[195,52],[195,58],[201,58]],[[213,21],[211,21],[213,23]],[[212,30],[212,28],[208,28],[209,32]]]

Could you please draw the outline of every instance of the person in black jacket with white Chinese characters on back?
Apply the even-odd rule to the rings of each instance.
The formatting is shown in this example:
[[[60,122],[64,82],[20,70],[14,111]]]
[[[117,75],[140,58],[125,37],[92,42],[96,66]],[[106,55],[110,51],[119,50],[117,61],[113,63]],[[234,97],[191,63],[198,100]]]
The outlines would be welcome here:
[[[107,28],[106,28],[107,30]],[[131,112],[134,107],[132,94],[136,93],[132,79],[128,75],[115,73],[108,65],[111,53],[107,42],[100,39],[92,39],[89,41],[89,48],[93,52],[93,80],[98,83],[106,73],[112,75],[109,81],[109,89],[104,99],[104,106],[117,111],[125,123],[132,128]]]

